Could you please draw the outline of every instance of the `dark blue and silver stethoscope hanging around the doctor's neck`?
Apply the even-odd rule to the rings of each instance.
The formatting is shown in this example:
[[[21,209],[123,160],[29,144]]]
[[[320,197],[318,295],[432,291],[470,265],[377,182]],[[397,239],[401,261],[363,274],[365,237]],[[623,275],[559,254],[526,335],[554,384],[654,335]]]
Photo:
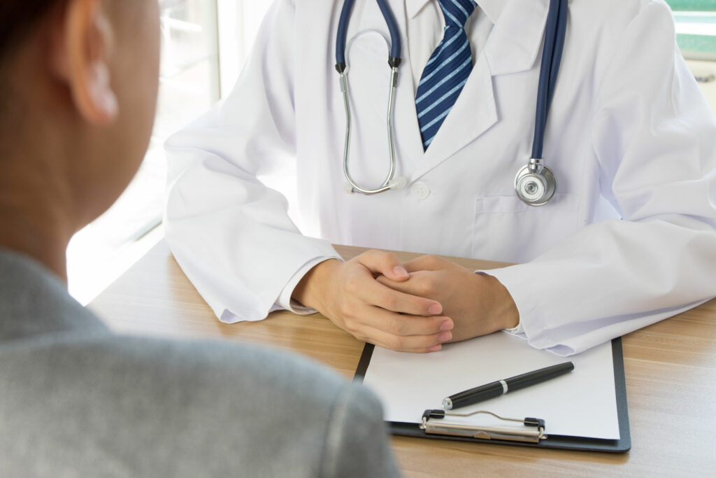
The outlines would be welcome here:
[[[387,130],[388,147],[390,149],[390,168],[383,183],[377,188],[363,188],[351,177],[348,163],[351,140],[351,110],[347,83],[346,62],[346,36],[348,23],[353,9],[354,0],[345,0],[338,22],[336,38],[336,70],[340,74],[341,92],[346,111],[346,135],[343,149],[343,173],[348,181],[349,192],[361,194],[376,194],[389,189],[405,187],[405,178],[395,177],[395,142],[393,139],[392,118],[395,107],[395,90],[398,82],[398,67],[400,66],[400,32],[387,0],[376,0],[385,23],[390,32],[390,53],[388,66],[390,67],[390,93],[388,96]],[[539,83],[537,90],[537,106],[535,114],[535,133],[532,140],[532,155],[525,166],[520,168],[515,177],[515,191],[517,196],[530,206],[542,206],[552,199],[557,188],[557,177],[548,168],[542,157],[544,134],[547,124],[549,106],[553,97],[557,81],[557,73],[564,47],[564,38],[567,27],[567,1],[550,0],[547,22],[545,27],[542,62],[540,66]]]

